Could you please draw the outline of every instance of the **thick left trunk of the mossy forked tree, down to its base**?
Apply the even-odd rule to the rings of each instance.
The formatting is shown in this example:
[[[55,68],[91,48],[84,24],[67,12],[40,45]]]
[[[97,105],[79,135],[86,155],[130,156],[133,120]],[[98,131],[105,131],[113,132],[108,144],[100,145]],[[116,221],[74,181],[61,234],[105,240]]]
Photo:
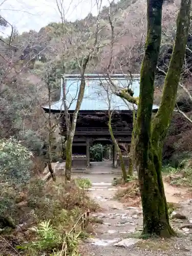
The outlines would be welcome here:
[[[156,126],[157,131],[151,129],[154,127],[152,106],[154,79],[161,41],[162,4],[163,1],[152,0],[147,2],[147,38],[141,68],[135,151],[143,206],[142,234],[170,237],[174,236],[175,232],[169,225],[168,207],[161,175],[163,145],[161,140],[162,130],[159,130],[161,123],[159,122]],[[158,115],[156,115],[157,117]],[[160,119],[157,118],[156,120]],[[167,129],[169,121],[168,119],[165,122],[163,121],[161,129]],[[156,134],[154,134],[155,131]]]

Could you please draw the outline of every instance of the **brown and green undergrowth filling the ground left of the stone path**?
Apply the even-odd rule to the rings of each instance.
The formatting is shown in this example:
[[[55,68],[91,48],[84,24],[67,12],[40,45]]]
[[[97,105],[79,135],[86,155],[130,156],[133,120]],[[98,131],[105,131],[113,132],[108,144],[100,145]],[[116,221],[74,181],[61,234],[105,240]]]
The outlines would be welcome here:
[[[83,179],[67,184],[32,179],[19,189],[4,186],[0,254],[79,255],[78,244],[94,222],[86,223],[84,212],[99,209],[87,194],[88,185]]]

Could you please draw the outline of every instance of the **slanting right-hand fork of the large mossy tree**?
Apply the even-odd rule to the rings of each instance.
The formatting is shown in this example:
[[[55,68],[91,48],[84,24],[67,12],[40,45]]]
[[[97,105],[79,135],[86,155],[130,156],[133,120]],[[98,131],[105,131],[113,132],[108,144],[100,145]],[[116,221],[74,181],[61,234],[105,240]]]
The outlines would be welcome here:
[[[175,108],[189,31],[190,6],[191,0],[181,0],[172,58],[165,77],[160,107],[153,121],[152,140],[157,143],[163,142]]]

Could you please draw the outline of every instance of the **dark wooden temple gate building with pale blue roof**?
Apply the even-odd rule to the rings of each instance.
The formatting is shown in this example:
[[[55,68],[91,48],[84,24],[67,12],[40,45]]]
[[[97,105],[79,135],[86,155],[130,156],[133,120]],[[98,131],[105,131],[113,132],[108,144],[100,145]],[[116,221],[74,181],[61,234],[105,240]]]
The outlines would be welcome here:
[[[72,166],[90,167],[90,146],[94,143],[113,144],[108,128],[109,106],[112,112],[112,129],[119,145],[130,145],[133,130],[133,110],[137,106],[124,101],[116,96],[109,86],[106,75],[86,74],[86,88],[83,101],[78,114],[75,136],[72,147]],[[127,88],[130,84],[130,76],[113,74],[113,82],[118,88]],[[65,116],[63,116],[63,82],[66,83],[66,98],[68,111],[73,115],[76,107],[77,95],[80,85],[80,75],[65,75],[61,79],[60,99],[51,105],[52,113],[60,113],[61,135],[66,136]],[[139,96],[139,75],[132,78],[131,88],[134,96]],[[49,106],[43,109],[49,112]],[[154,105],[153,110],[158,106]],[[124,162],[129,164],[129,158],[125,155]],[[118,154],[113,144],[113,167],[119,165]]]

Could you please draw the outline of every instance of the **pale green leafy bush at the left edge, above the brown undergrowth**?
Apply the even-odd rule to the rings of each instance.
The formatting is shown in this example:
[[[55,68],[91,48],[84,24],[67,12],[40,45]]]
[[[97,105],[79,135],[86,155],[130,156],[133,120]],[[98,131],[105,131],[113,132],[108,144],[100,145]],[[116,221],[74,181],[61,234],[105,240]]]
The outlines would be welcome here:
[[[14,138],[0,140],[1,181],[9,184],[27,182],[30,178],[32,153]]]

